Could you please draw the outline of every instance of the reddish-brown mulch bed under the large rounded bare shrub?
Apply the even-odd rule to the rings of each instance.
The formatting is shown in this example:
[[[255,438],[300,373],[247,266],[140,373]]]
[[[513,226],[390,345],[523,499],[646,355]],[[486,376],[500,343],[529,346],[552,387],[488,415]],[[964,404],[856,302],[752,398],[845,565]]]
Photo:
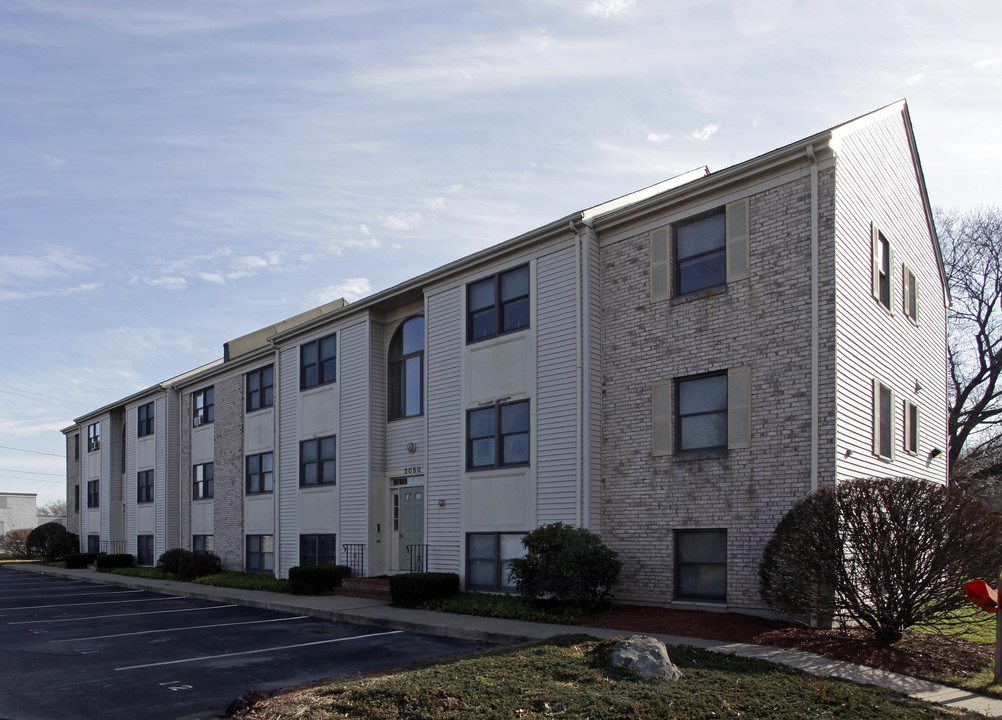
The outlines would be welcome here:
[[[973,675],[994,661],[994,648],[939,635],[905,633],[894,645],[865,630],[815,630],[739,613],[624,605],[589,615],[583,625],[634,633],[776,645],[881,670],[935,678]]]

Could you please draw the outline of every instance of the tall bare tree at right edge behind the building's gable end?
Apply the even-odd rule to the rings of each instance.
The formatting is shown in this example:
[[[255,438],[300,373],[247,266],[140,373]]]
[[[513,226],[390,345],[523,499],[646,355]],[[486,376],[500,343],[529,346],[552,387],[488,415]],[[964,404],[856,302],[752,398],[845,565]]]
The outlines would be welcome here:
[[[950,309],[950,467],[1002,444],[1002,209],[936,215]]]

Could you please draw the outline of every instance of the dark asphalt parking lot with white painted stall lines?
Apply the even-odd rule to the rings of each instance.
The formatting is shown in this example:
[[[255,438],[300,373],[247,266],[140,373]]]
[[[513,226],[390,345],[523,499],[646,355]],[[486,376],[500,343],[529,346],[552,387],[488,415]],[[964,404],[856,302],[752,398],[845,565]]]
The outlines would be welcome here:
[[[210,718],[247,690],[488,647],[0,570],[0,718]]]

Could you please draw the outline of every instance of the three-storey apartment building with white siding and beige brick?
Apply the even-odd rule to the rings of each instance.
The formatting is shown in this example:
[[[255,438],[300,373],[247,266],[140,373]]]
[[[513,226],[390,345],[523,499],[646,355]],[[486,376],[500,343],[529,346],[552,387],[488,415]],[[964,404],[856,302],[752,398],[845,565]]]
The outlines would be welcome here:
[[[896,103],[229,340],[64,431],[69,527],[504,591],[561,521],[619,553],[621,599],[761,609],[813,489],[946,482],[947,302]]]

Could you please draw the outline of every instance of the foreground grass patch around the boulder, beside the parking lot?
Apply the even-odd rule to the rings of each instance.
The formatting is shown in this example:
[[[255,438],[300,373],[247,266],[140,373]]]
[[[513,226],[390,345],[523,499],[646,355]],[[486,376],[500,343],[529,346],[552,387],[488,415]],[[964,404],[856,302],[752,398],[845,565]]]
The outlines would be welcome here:
[[[502,650],[279,696],[253,717],[320,718],[956,718],[896,693],[771,663],[669,647],[677,682],[596,666],[586,636]],[[970,716],[973,717],[973,716]]]

